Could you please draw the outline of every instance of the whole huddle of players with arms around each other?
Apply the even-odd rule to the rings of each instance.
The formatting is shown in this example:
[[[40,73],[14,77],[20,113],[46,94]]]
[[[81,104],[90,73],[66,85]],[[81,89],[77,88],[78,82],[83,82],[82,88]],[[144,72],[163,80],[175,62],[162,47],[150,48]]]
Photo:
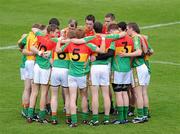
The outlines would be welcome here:
[[[79,97],[82,124],[100,124],[99,90],[102,90],[104,103],[102,124],[147,122],[150,117],[147,93],[151,73],[149,57],[153,49],[148,36],[140,33],[139,26],[117,23],[115,15],[108,13],[104,24],[88,15],[85,26],[78,26],[77,21],[71,19],[66,28],[60,30],[59,27],[56,18],[50,19],[47,26],[34,24],[31,31],[18,41],[22,53],[20,73],[24,80],[21,114],[27,122],[58,124],[60,87],[65,122],[70,127],[78,125]],[[40,110],[36,113],[39,91]],[[128,116],[134,116],[135,108],[136,117],[130,121]],[[47,114],[51,116],[50,120]],[[90,114],[92,120],[88,120]],[[115,114],[116,120],[112,121],[110,114]]]

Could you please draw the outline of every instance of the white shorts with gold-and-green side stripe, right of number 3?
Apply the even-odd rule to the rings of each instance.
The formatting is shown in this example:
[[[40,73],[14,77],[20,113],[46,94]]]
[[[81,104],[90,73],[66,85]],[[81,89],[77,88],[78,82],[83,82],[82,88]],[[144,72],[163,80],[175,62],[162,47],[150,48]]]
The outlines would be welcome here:
[[[132,86],[145,86],[149,85],[150,74],[145,64],[132,68]]]

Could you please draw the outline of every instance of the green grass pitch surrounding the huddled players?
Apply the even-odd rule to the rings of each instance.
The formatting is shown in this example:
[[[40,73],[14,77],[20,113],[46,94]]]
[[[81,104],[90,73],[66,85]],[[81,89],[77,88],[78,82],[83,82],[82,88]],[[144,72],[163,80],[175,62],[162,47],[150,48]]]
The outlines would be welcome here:
[[[1,0],[0,1],[0,47],[14,45],[22,33],[30,30],[33,23],[47,24],[49,18],[61,20],[65,27],[68,19],[75,18],[84,25],[84,18],[94,14],[103,21],[104,15],[113,12],[117,21],[135,21],[140,26],[179,21],[178,0]],[[152,61],[180,63],[180,25],[143,30],[149,35],[155,55]],[[27,124],[20,115],[23,82],[19,78],[21,54],[18,50],[0,50],[0,133],[180,133],[180,66],[151,64],[152,79],[149,87],[152,118],[148,123],[134,125],[84,126],[70,129],[64,123],[62,97],[59,96],[60,124]],[[102,100],[102,99],[101,99]],[[37,106],[38,107],[38,106]],[[102,101],[100,111],[102,111]],[[81,115],[78,115],[81,118]],[[112,117],[114,118],[114,117]],[[79,122],[81,119],[79,119]]]

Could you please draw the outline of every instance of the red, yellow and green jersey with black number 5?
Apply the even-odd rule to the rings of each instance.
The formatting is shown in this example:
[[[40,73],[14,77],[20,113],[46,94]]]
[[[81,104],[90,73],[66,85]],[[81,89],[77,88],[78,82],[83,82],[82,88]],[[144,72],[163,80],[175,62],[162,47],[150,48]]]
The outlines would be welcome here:
[[[61,47],[69,55],[69,75],[75,77],[85,76],[90,72],[89,55],[96,50],[92,43],[76,45],[69,43]]]

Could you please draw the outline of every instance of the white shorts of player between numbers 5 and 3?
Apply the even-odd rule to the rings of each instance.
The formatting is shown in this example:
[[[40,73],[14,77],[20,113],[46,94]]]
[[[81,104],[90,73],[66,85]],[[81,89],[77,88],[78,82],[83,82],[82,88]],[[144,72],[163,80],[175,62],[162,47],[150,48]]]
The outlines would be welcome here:
[[[109,85],[109,67],[108,65],[92,65],[91,66],[91,82],[93,86]]]

